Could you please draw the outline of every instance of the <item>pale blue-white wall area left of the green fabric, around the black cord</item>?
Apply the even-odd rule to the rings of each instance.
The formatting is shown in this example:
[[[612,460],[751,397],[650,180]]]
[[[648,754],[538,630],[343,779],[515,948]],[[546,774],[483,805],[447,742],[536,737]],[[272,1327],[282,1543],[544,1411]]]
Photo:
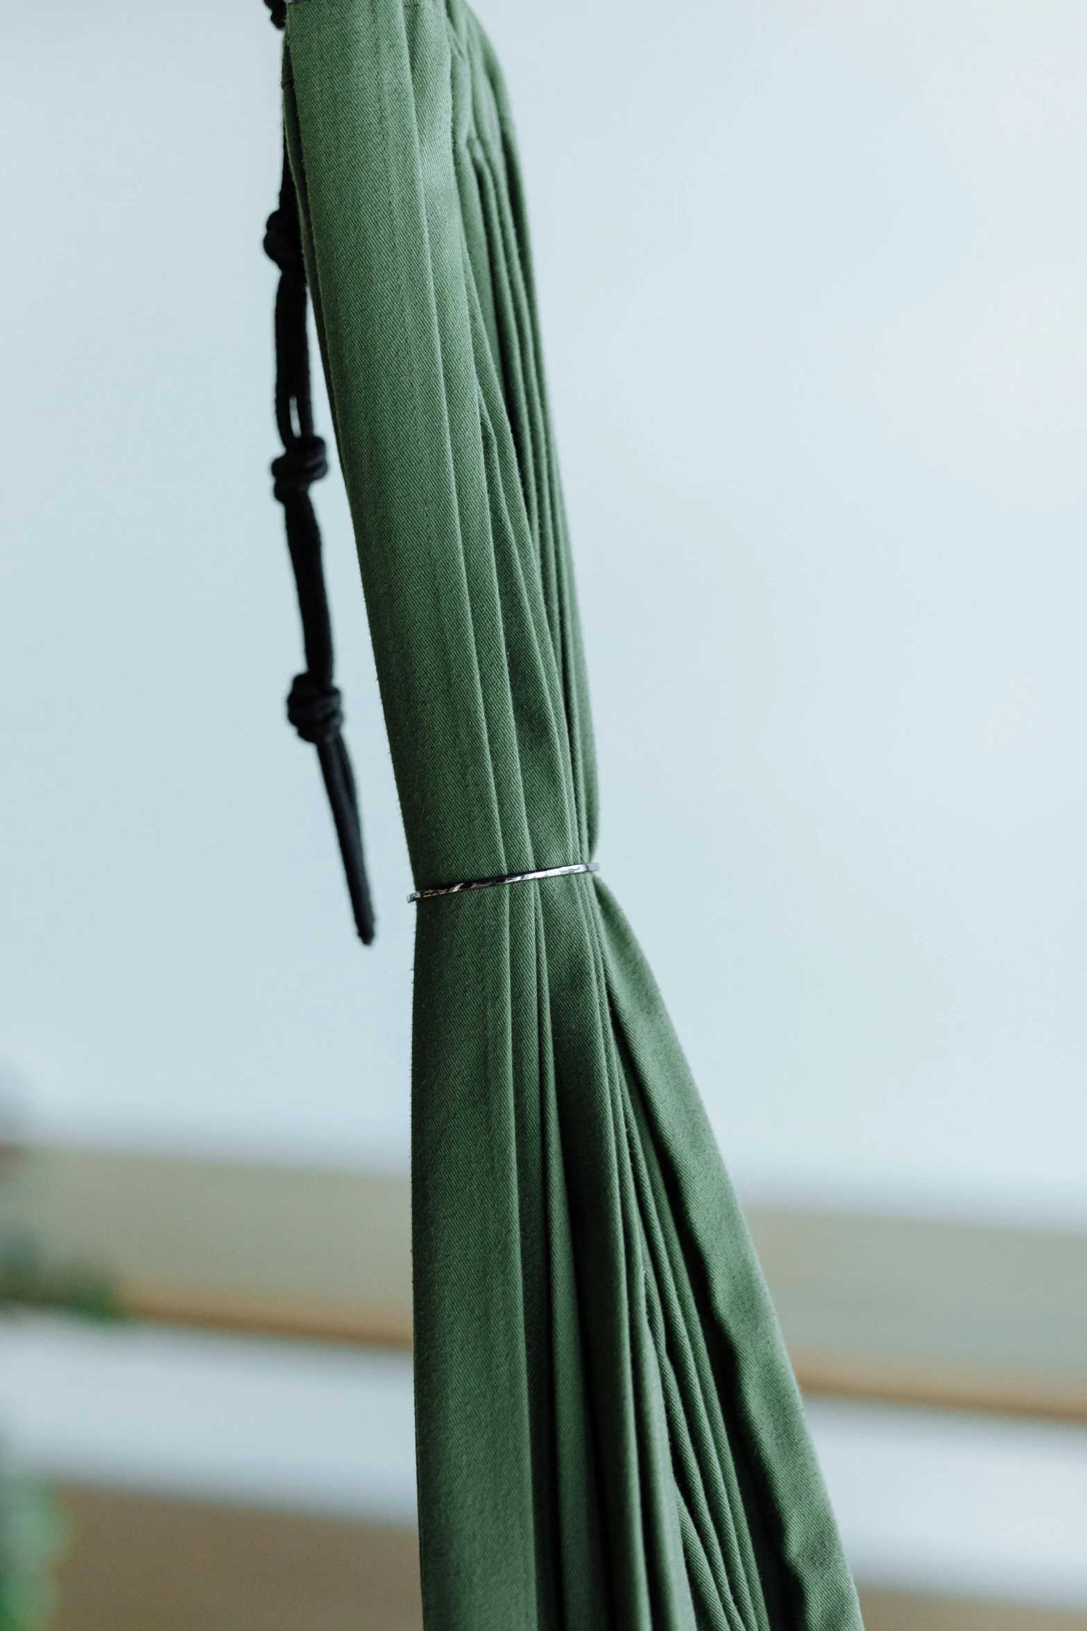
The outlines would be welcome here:
[[[8,3],[5,36],[0,1054],[55,1138],[401,1161],[411,881],[337,480],[373,953],[284,718],[279,36],[259,0]]]

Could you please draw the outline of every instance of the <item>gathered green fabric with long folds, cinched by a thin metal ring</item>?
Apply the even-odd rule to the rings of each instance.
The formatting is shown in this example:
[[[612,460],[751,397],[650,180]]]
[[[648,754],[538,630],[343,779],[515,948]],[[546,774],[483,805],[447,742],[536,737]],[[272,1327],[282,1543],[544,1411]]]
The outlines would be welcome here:
[[[284,82],[417,886],[588,861],[494,54],[461,0],[295,0]],[[427,1631],[860,1624],[743,1218],[596,877],[417,907],[412,1196]]]

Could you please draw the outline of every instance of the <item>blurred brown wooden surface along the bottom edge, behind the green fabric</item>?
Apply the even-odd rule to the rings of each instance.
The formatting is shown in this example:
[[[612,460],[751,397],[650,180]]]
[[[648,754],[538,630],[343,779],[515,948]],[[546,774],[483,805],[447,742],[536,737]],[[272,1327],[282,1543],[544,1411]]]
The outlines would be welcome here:
[[[411,1530],[67,1489],[52,1631],[422,1631]],[[1087,1631],[1087,1615],[862,1590],[867,1631]]]

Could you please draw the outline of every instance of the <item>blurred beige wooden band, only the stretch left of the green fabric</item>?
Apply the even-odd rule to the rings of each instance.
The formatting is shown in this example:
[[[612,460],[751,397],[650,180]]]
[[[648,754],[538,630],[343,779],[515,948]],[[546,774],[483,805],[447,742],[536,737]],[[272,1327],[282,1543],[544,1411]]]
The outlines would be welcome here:
[[[5,1227],[114,1277],[139,1318],[411,1346],[404,1178],[31,1150]]]

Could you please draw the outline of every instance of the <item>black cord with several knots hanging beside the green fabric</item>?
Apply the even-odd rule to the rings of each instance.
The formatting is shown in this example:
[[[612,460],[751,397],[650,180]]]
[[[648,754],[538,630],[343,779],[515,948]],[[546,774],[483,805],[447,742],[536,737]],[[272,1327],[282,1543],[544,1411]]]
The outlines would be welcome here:
[[[284,26],[284,0],[266,0],[272,23]],[[306,672],[297,674],[287,698],[287,718],[303,742],[313,742],[347,874],[355,928],[363,944],[373,941],[373,904],[362,853],[362,824],[355,778],[341,736],[344,709],[332,685],[332,625],[321,566],[321,530],[310,486],[328,475],[324,442],[313,432],[310,400],[310,336],[306,333],[306,269],[301,258],[298,199],[284,147],[279,209],[267,219],[264,253],[279,266],[275,292],[275,422],[284,452],[272,460],[274,493],[284,506],[287,548],[295,569]]]

